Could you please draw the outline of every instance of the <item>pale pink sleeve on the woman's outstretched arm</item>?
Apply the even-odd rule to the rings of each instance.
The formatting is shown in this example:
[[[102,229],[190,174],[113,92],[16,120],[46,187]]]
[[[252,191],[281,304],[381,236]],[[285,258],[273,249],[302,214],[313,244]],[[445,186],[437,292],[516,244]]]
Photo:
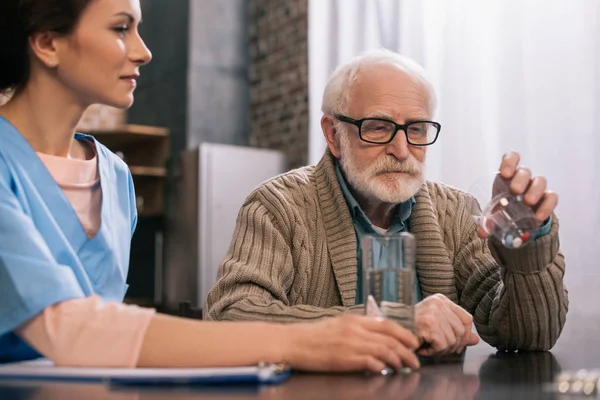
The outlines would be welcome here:
[[[59,366],[132,368],[154,314],[93,295],[46,307],[15,333]]]

